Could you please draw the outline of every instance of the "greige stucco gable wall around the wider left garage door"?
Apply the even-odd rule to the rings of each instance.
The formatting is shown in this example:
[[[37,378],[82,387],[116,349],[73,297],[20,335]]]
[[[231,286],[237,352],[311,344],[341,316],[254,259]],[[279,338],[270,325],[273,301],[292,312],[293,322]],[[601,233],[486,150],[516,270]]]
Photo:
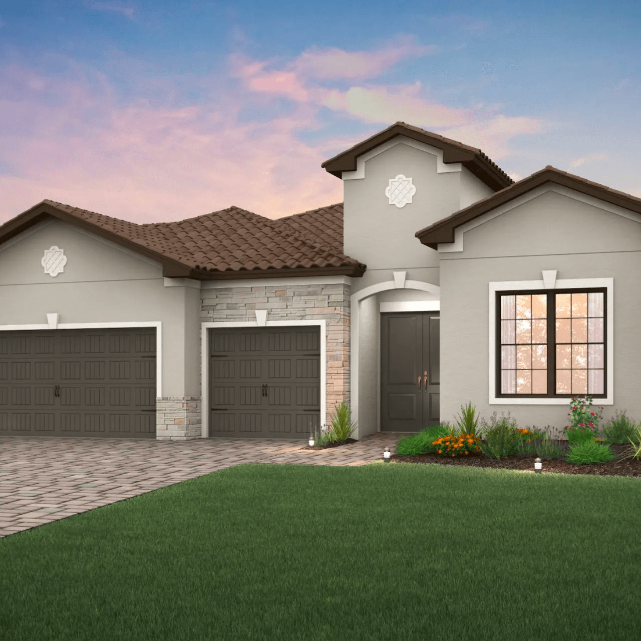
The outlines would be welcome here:
[[[56,245],[67,264],[54,278],[40,264]],[[0,247],[0,325],[162,322],[167,397],[197,397],[199,292],[164,287],[162,267],[61,221],[41,224]]]

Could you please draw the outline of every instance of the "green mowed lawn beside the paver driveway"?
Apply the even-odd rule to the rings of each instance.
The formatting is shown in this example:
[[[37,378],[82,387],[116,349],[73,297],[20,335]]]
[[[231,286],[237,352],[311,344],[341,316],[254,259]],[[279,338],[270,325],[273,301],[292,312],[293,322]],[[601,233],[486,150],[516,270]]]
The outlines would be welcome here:
[[[0,638],[638,638],[639,479],[238,465],[0,540]]]

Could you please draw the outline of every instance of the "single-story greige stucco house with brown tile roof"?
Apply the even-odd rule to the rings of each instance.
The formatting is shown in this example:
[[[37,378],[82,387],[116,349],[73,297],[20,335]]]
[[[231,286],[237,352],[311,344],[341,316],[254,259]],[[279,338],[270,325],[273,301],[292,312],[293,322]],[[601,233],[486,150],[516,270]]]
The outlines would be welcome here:
[[[46,200],[0,226],[0,435],[303,439],[342,401],[356,438],[467,401],[641,415],[641,199],[549,166],[514,183],[403,122],[322,167],[343,203],[277,220]]]

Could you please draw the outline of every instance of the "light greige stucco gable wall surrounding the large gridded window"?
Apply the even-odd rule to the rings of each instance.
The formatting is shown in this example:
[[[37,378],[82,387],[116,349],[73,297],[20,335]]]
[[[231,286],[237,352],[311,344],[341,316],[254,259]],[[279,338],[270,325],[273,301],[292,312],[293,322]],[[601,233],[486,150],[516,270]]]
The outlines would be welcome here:
[[[462,252],[440,254],[443,420],[453,420],[460,406],[472,401],[485,419],[494,411],[499,416],[509,411],[523,427],[567,424],[567,404],[489,403],[488,283],[541,280],[543,270],[556,270],[557,279],[614,279],[608,301],[614,310],[614,404],[605,406],[604,419],[615,410],[628,410],[641,420],[641,224],[574,193],[540,190],[537,197],[516,201],[509,212],[467,231]]]

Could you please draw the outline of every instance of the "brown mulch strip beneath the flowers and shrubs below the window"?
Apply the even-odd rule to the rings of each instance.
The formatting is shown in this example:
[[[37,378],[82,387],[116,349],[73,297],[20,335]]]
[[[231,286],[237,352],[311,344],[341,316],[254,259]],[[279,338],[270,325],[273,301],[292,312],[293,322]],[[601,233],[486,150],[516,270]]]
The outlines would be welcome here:
[[[315,448],[311,448],[315,449]],[[569,451],[569,447],[566,447]],[[562,458],[542,458],[542,473],[555,472],[561,474],[599,474],[600,476],[638,476],[641,477],[641,460],[626,458],[621,460],[622,453],[629,445],[610,445],[610,450],[617,454],[617,460],[610,463],[568,463]],[[483,454],[468,454],[445,458],[441,454],[415,454],[414,456],[398,456],[392,454],[391,461],[400,463],[438,463],[438,465],[465,465],[466,467],[491,467],[497,470],[534,470],[536,456],[520,456],[510,454],[500,459],[488,458]]]

